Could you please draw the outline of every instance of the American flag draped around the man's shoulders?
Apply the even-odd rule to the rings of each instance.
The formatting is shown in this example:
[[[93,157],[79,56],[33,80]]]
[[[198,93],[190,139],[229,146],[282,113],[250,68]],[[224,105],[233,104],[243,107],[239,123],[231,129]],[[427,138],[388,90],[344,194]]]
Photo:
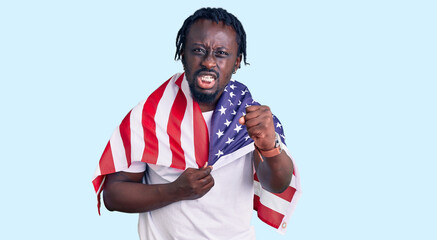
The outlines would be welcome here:
[[[231,80],[212,116],[210,134],[197,102],[193,101],[184,74],[176,74],[139,103],[114,131],[93,178],[100,212],[105,175],[126,170],[135,161],[177,169],[214,165],[230,154],[243,156],[254,150],[246,127],[238,123],[246,107],[259,105],[245,85]],[[279,120],[275,130],[285,143]],[[261,187],[254,175],[254,209],[268,225],[284,233],[301,194],[296,165],[290,186],[280,194]]]

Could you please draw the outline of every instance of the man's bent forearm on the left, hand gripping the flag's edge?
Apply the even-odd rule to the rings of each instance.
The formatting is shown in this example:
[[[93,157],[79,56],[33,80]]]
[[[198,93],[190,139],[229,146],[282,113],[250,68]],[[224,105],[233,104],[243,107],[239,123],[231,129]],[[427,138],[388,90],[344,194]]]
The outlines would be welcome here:
[[[197,199],[214,186],[211,170],[211,167],[188,168],[167,184],[142,184],[144,173],[109,174],[103,188],[103,201],[110,211],[139,213],[181,200]]]

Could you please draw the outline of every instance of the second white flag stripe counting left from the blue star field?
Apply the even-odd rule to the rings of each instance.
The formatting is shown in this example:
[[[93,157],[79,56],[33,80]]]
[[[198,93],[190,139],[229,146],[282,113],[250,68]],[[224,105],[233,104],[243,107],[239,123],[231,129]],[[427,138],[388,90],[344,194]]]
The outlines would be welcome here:
[[[169,167],[172,162],[172,153],[170,149],[170,140],[167,135],[168,118],[171,112],[171,106],[176,98],[178,86],[175,84],[175,79],[178,75],[173,76],[173,79],[167,84],[164,94],[158,103],[155,115],[156,137],[158,138],[158,160],[157,165]]]

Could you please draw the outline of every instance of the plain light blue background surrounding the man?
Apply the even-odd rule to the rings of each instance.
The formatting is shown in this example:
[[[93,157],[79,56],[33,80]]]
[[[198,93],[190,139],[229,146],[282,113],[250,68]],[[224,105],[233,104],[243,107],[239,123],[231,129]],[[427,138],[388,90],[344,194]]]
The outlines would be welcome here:
[[[175,72],[183,20],[234,13],[235,78],[285,126],[304,194],[258,239],[437,239],[435,1],[1,1],[0,239],[137,239],[91,177],[125,114]],[[224,229],[225,230],[225,229]]]

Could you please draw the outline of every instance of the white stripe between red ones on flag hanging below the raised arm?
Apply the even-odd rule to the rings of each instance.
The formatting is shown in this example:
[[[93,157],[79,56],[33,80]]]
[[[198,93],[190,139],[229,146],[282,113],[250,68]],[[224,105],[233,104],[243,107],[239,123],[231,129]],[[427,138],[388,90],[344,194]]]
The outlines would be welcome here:
[[[261,184],[258,181],[254,181],[253,184],[255,187],[255,194],[259,196],[259,201],[262,205],[285,215],[288,207],[290,206],[290,202],[262,189]]]

